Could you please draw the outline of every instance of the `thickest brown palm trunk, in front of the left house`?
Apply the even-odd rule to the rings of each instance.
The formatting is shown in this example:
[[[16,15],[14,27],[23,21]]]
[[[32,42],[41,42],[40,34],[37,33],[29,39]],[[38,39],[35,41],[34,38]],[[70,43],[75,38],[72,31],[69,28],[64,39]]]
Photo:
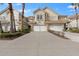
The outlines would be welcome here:
[[[15,32],[16,27],[15,27],[15,20],[14,20],[12,3],[8,3],[8,5],[9,5],[9,12],[10,12],[10,20],[11,20],[10,32]]]

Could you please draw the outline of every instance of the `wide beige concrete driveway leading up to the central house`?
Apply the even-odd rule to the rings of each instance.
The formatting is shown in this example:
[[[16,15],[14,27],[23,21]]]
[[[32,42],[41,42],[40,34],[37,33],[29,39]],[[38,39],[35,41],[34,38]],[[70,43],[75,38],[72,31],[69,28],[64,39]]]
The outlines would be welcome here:
[[[0,55],[79,56],[79,43],[49,32],[31,32],[14,40],[0,40]]]

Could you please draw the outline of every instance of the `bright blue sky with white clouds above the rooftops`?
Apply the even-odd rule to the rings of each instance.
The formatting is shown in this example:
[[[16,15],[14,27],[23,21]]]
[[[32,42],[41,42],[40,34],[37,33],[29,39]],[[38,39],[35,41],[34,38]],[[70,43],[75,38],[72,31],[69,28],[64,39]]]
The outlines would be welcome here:
[[[7,3],[3,3],[0,5],[0,12],[8,7]],[[25,4],[25,16],[32,16],[33,11],[38,8],[45,8],[49,7],[53,9],[60,15],[73,15],[75,13],[73,6],[71,3],[26,3]],[[17,11],[22,11],[22,4],[21,3],[13,3],[13,8]]]

